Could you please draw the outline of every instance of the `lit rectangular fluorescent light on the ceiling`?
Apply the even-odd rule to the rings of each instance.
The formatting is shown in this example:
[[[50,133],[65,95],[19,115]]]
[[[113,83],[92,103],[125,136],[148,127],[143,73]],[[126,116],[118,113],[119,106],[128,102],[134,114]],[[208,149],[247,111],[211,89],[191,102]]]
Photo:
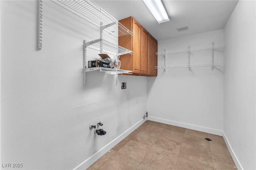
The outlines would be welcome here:
[[[160,24],[162,22],[169,21],[169,17],[164,9],[161,0],[143,0],[147,5],[150,12],[156,18],[157,22]]]

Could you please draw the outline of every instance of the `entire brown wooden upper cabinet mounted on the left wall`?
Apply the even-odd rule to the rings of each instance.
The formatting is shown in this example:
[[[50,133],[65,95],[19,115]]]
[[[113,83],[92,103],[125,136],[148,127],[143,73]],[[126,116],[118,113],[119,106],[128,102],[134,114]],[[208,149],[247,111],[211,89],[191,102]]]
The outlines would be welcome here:
[[[118,45],[133,51],[132,54],[125,54],[120,57],[122,62],[120,69],[132,70],[132,75],[157,76],[157,69],[154,69],[154,66],[157,66],[154,63],[157,56],[157,46],[154,52],[155,39],[132,16],[119,22],[131,30],[133,34],[132,36],[118,37]],[[155,42],[157,45],[156,40]]]

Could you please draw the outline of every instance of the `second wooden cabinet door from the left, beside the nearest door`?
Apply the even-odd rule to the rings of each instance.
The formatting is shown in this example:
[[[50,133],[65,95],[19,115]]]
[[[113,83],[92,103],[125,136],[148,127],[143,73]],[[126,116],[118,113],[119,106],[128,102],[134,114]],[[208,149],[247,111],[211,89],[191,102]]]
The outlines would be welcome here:
[[[148,32],[141,27],[141,74],[148,75]]]

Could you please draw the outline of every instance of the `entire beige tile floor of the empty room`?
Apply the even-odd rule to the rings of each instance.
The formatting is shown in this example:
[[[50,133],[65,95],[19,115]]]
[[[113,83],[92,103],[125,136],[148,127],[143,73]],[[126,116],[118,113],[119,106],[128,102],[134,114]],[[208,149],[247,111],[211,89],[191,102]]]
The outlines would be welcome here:
[[[236,165],[222,136],[146,121],[87,170],[174,169],[233,170]]]

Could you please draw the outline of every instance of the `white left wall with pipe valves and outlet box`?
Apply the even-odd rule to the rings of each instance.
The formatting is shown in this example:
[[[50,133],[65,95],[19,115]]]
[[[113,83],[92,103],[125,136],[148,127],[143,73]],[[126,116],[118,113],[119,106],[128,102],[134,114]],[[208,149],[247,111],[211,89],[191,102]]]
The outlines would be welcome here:
[[[83,86],[83,40],[100,38],[98,27],[44,1],[38,50],[38,1],[1,1],[0,12],[1,164],[86,169],[143,123],[146,77],[120,75],[116,86],[115,75],[90,72]],[[98,53],[88,48],[88,60]],[[89,129],[98,121],[105,136]]]

